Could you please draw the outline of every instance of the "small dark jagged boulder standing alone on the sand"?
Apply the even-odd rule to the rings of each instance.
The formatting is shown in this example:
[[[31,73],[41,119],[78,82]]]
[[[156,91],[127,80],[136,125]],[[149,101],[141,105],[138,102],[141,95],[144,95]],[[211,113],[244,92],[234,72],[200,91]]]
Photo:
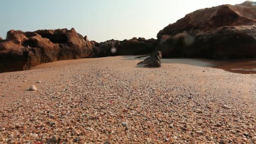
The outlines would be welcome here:
[[[145,67],[161,67],[161,59],[162,59],[162,52],[155,51],[144,61],[139,62],[138,64],[147,64]]]

